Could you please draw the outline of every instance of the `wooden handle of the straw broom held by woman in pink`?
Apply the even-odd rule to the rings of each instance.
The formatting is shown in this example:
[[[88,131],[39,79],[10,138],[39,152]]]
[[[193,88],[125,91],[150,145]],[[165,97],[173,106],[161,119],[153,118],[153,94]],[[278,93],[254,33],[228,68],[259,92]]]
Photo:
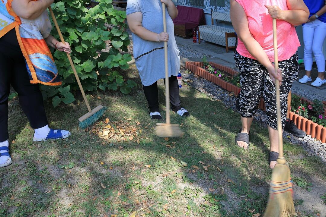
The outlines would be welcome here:
[[[274,41],[274,67],[275,73],[278,70],[278,54],[277,54],[277,34],[276,19],[273,19],[273,41]],[[276,89],[276,112],[277,112],[277,132],[278,132],[278,158],[283,157],[283,129],[281,124],[281,98],[280,98],[280,82],[275,79]]]

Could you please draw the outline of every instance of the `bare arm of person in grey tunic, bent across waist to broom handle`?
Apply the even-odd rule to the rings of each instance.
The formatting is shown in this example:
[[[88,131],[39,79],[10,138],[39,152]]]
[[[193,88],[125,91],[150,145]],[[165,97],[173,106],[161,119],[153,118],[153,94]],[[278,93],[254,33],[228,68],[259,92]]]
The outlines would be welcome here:
[[[169,34],[168,33],[154,33],[149,31],[148,29],[144,28],[141,24],[142,22],[142,13],[141,12],[135,12],[132,14],[127,15],[127,22],[129,29],[134,34],[138,35],[144,40],[147,41],[168,41],[169,40]]]

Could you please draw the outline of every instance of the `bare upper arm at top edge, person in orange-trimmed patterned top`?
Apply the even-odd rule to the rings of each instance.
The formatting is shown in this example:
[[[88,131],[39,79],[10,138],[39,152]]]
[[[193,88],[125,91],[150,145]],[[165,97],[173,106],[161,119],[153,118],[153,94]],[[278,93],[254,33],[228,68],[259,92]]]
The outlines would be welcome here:
[[[54,0],[13,0],[11,7],[19,17],[33,20],[39,17],[53,2]]]

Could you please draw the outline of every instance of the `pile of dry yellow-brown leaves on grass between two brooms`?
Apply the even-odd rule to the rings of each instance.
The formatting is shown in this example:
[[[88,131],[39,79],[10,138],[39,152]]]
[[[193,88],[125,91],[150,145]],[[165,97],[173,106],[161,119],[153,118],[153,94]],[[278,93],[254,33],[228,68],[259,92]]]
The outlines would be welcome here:
[[[86,129],[90,133],[98,135],[101,139],[110,141],[135,141],[139,143],[139,134],[142,133],[141,123],[135,121],[135,124],[132,124],[130,118],[125,120],[113,121],[110,122],[109,118],[105,118],[103,121],[99,121],[94,124],[91,128]]]

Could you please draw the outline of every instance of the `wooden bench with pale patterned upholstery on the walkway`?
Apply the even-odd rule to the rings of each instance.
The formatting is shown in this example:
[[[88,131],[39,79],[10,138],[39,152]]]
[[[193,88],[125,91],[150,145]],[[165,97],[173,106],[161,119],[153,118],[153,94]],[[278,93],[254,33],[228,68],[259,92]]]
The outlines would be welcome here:
[[[232,25],[225,23],[216,23],[214,25],[214,20],[231,22],[229,13],[215,12],[212,9],[212,25],[199,26],[199,38],[201,35],[205,41],[225,46],[226,52],[229,51],[229,48],[235,48],[237,35]]]

